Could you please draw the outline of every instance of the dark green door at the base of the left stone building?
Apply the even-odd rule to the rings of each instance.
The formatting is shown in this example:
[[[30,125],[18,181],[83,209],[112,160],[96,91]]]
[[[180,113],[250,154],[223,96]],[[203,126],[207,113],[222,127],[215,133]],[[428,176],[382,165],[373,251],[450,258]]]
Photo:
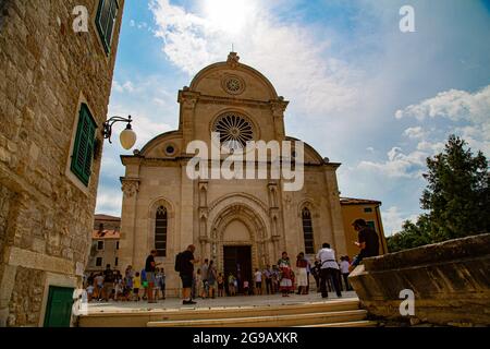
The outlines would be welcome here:
[[[45,327],[70,327],[73,290],[73,288],[68,287],[49,287]]]

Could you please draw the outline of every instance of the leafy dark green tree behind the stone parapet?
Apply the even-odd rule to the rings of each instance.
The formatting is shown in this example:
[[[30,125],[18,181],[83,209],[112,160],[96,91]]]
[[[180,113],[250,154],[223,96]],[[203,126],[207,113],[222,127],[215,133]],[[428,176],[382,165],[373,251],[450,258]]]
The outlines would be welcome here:
[[[420,205],[428,213],[388,238],[391,252],[490,231],[490,176],[481,152],[451,135],[444,152],[427,158]]]

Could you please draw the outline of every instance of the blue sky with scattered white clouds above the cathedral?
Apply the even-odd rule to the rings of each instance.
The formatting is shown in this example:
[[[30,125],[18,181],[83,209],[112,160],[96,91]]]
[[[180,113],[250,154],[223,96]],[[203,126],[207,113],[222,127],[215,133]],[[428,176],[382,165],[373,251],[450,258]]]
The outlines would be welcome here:
[[[341,196],[382,202],[390,236],[422,213],[450,134],[490,156],[489,37],[487,0],[126,0],[108,117],[133,117],[136,148],[177,129],[177,91],[233,45],[290,100],[286,134],[342,163]],[[121,215],[122,154],[105,144],[97,213]]]

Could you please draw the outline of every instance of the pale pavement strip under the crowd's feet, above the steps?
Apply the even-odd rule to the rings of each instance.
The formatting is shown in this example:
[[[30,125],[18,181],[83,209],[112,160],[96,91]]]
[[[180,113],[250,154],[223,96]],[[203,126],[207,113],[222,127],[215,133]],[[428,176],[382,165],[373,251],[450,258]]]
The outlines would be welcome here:
[[[281,305],[281,304],[298,304],[311,302],[330,302],[342,299],[357,299],[354,291],[342,292],[342,298],[338,298],[335,293],[330,292],[329,298],[322,299],[320,293],[309,294],[291,294],[290,297],[282,297],[280,293],[271,296],[235,296],[235,297],[220,297],[216,299],[196,299],[195,305],[183,305],[182,300],[177,298],[168,298],[159,300],[158,303],[148,303],[147,301],[128,301],[128,302],[98,302],[93,301],[88,305],[88,313],[100,312],[142,312],[142,311],[158,311],[171,309],[209,309],[209,308],[242,308],[242,306],[264,306],[264,305]]]

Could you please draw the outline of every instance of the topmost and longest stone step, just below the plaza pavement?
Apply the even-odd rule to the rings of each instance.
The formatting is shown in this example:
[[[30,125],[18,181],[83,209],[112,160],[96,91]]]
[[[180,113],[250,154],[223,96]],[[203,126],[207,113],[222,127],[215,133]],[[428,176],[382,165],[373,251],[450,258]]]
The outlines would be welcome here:
[[[330,300],[280,305],[256,306],[212,306],[180,309],[132,310],[100,312],[82,315],[81,327],[145,327],[148,323],[160,321],[223,320],[235,317],[258,317],[280,315],[303,315],[308,313],[328,313],[359,309],[358,299]]]

